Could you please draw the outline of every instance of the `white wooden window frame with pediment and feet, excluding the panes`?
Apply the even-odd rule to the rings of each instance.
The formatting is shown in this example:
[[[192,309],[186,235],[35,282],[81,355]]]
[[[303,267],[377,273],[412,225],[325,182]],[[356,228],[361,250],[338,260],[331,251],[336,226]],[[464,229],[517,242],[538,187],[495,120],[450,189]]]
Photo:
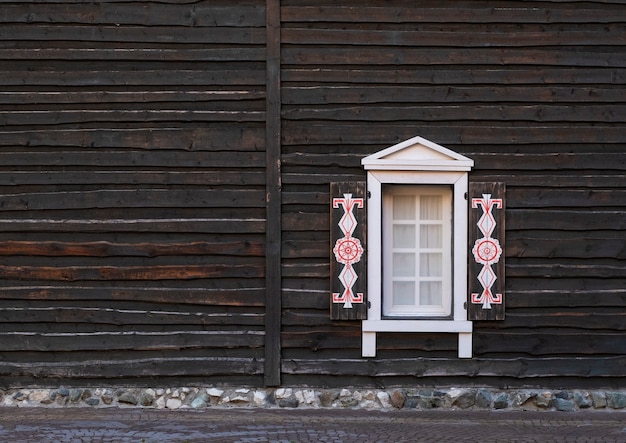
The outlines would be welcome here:
[[[431,152],[432,151],[432,152]],[[431,155],[432,154],[432,155]],[[414,137],[362,160],[367,170],[368,313],[362,322],[362,355],[376,356],[379,332],[458,334],[459,358],[472,357],[472,322],[467,320],[468,171],[473,161],[421,137]],[[383,316],[383,185],[452,187],[452,315],[445,319]]]

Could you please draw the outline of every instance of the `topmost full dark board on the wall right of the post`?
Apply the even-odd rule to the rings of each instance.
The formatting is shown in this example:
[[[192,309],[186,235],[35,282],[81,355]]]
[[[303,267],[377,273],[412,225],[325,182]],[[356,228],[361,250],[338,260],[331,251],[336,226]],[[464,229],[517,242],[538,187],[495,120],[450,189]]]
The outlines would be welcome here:
[[[447,5],[446,5],[447,6]],[[455,5],[456,6],[456,5]],[[415,8],[413,6],[284,6],[285,22],[339,23],[456,23],[459,15],[464,23],[612,23],[623,10],[618,5],[580,5],[558,8],[541,4],[536,8],[494,8],[490,2],[474,2],[471,7],[445,7],[444,4]]]

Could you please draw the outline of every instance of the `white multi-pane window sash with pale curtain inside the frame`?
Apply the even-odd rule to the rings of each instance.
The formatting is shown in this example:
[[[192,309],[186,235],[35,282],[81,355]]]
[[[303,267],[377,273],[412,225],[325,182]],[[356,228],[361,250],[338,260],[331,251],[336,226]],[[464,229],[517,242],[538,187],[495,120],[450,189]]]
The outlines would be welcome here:
[[[388,185],[382,194],[383,316],[450,316],[452,189]]]

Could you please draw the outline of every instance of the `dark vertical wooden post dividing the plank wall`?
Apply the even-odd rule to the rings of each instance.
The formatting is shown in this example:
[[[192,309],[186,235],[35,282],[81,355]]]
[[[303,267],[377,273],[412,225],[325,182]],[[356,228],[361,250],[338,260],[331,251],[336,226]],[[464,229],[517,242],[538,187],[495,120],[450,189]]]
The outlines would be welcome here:
[[[281,120],[280,0],[266,3],[266,250],[265,367],[266,386],[280,385],[281,362]]]

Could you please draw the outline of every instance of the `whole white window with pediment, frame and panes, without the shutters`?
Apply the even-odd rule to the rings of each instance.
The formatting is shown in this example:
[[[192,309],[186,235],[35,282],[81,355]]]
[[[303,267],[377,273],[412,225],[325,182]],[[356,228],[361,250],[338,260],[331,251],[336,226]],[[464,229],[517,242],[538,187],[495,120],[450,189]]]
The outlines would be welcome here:
[[[472,354],[467,320],[468,171],[473,161],[421,137],[366,157],[365,357],[378,332],[446,332]]]

